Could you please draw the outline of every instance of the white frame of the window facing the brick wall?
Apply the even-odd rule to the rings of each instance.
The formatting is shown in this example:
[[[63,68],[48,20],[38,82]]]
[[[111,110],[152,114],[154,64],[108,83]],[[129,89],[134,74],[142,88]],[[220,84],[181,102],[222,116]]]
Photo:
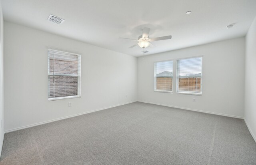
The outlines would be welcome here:
[[[72,54],[78,56],[78,71],[80,71],[80,76],[78,75],[67,75],[67,74],[57,74],[56,76],[74,76],[77,77],[77,95],[72,95],[72,96],[64,96],[64,97],[54,97],[54,98],[49,98],[49,92],[50,92],[50,84],[49,84],[49,76],[53,76],[55,74],[50,74],[50,56],[48,54],[49,50],[52,51],[57,51],[57,52],[63,52],[66,54]],[[81,71],[81,66],[82,66],[82,61],[81,61],[81,54],[74,53],[71,51],[65,51],[65,50],[60,50],[56,48],[47,48],[47,58],[48,58],[48,101],[54,101],[54,100],[61,100],[61,99],[73,99],[73,98],[80,98],[81,97],[81,77],[82,77],[82,71]]]

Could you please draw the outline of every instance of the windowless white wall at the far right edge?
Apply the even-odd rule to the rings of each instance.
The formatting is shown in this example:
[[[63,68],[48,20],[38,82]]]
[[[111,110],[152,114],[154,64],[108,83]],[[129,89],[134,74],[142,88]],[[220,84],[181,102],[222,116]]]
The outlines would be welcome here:
[[[256,18],[246,34],[244,119],[256,141]]]

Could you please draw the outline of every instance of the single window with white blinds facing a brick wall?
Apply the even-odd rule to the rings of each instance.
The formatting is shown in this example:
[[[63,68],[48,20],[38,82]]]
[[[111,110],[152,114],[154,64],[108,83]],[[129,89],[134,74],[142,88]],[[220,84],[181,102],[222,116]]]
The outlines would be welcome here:
[[[48,100],[81,96],[81,56],[48,49]]]

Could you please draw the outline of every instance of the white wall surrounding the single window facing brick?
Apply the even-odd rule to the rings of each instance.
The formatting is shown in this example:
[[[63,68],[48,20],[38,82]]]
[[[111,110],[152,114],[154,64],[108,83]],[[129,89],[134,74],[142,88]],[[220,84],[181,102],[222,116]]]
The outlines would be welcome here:
[[[10,22],[4,43],[6,131],[137,100],[133,56]],[[48,101],[48,46],[82,55],[81,98]]]

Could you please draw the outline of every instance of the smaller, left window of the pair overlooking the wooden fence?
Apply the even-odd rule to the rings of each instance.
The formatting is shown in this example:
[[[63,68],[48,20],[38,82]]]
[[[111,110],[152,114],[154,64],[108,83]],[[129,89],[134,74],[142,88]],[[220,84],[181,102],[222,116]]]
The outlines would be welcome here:
[[[172,61],[154,63],[154,91],[172,92]]]

